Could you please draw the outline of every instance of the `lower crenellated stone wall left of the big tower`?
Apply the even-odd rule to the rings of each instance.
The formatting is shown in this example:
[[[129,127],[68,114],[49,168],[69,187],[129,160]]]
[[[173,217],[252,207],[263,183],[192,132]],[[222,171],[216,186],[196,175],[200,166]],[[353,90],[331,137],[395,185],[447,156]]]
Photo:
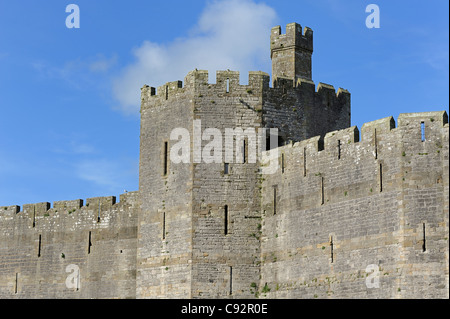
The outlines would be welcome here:
[[[0,298],[135,298],[137,197],[0,207]]]

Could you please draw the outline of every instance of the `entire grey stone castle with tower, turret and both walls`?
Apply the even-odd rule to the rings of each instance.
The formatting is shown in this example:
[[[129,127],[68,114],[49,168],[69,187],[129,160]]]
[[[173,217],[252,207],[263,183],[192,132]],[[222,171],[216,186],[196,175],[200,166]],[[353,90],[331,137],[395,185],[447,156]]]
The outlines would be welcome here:
[[[145,85],[139,190],[0,207],[0,298],[448,298],[447,113],[359,130],[350,93],[311,80],[312,53],[290,23],[271,30],[272,83]],[[191,154],[227,128],[278,129],[261,152],[275,169],[251,134],[221,144],[237,160]],[[175,129],[204,133],[185,160]]]

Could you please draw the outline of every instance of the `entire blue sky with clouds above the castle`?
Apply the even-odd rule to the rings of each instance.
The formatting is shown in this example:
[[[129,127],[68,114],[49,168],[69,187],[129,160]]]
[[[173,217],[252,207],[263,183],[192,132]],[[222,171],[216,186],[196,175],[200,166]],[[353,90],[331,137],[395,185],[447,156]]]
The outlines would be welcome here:
[[[80,28],[65,25],[66,5]],[[368,4],[380,28],[368,29]],[[270,74],[270,28],[314,30],[313,80],[349,90],[352,125],[446,110],[449,3],[0,0],[0,205],[138,189],[139,92],[195,68]]]

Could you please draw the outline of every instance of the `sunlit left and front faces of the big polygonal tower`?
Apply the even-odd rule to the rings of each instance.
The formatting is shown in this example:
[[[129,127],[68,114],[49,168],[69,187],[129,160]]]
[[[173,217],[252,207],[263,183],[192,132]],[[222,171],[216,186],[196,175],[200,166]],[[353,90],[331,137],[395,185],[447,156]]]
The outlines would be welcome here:
[[[223,137],[226,129],[262,127],[269,77],[251,72],[249,85],[239,85],[238,72],[216,78],[209,84],[208,72],[196,70],[184,86],[142,88],[138,297],[250,297],[258,282],[258,163],[248,152],[210,162],[207,150],[213,139],[215,154],[252,145],[251,137]],[[179,163],[171,160],[181,142],[176,132],[189,139]]]

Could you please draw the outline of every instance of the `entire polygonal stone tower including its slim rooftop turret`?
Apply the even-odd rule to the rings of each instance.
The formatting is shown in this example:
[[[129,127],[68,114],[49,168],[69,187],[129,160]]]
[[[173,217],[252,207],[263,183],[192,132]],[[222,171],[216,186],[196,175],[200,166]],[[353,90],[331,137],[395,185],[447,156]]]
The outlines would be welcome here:
[[[211,84],[195,70],[184,82],[142,88],[138,298],[252,297],[261,263],[258,131],[277,128],[283,144],[349,126],[350,94],[322,83],[316,92],[311,81],[312,31],[294,23],[280,33],[271,35],[274,87],[260,71],[242,85],[236,71],[217,71]]]

